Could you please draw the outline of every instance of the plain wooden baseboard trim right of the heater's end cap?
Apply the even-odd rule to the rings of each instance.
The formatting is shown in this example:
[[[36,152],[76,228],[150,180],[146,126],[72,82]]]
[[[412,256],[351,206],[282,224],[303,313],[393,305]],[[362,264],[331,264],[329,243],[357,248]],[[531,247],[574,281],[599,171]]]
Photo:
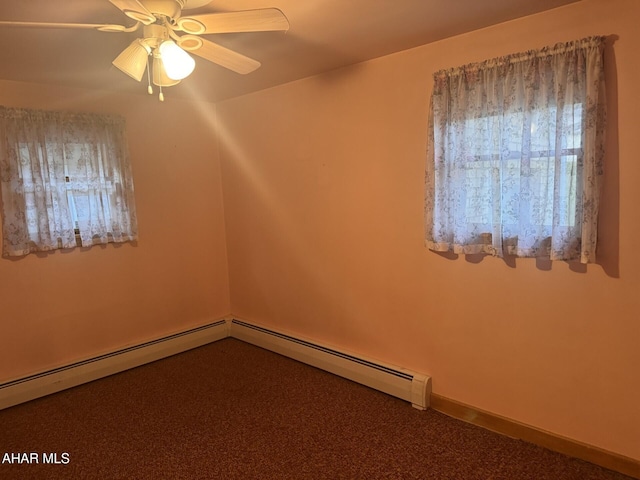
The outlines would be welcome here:
[[[431,408],[450,417],[640,479],[640,461],[431,394]]]

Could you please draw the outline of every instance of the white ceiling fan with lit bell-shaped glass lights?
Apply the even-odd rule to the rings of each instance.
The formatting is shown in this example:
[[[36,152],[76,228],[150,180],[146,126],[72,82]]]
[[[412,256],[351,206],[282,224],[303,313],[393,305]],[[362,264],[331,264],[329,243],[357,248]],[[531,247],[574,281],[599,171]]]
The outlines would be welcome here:
[[[162,87],[176,85],[195,68],[195,60],[189,53],[240,74],[250,73],[260,67],[257,60],[206,40],[200,35],[289,29],[287,17],[277,8],[185,15],[184,10],[203,7],[212,0],[109,1],[126,16],[135,20],[135,24],[124,26],[0,21],[0,26],[93,29],[115,33],[134,32],[142,28],[142,36],[125,48],[113,60],[113,65],[137,81],[141,81],[147,71],[148,91],[153,93],[153,80],[153,83],[160,87],[161,101],[164,100]]]

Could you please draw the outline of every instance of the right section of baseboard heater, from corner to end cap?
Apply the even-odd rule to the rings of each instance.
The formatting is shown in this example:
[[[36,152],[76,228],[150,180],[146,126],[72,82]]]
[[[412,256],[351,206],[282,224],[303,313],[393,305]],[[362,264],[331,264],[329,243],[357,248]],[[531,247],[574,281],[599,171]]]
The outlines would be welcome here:
[[[429,407],[431,378],[427,375],[237,319],[231,321],[231,336],[401,398],[419,410]]]

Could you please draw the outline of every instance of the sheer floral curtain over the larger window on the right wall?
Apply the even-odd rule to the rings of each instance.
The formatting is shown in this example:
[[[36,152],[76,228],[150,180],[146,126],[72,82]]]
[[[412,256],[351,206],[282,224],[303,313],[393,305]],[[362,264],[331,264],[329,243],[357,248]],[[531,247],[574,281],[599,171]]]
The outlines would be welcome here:
[[[605,37],[434,74],[426,245],[595,261]]]

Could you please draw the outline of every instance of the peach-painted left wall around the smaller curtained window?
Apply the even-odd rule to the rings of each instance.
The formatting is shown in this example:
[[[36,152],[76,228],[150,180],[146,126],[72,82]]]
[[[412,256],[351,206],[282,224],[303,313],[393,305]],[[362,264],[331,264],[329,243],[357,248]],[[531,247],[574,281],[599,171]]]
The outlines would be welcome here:
[[[0,104],[126,117],[137,245],[0,259],[0,383],[226,316],[215,106],[0,82]]]

